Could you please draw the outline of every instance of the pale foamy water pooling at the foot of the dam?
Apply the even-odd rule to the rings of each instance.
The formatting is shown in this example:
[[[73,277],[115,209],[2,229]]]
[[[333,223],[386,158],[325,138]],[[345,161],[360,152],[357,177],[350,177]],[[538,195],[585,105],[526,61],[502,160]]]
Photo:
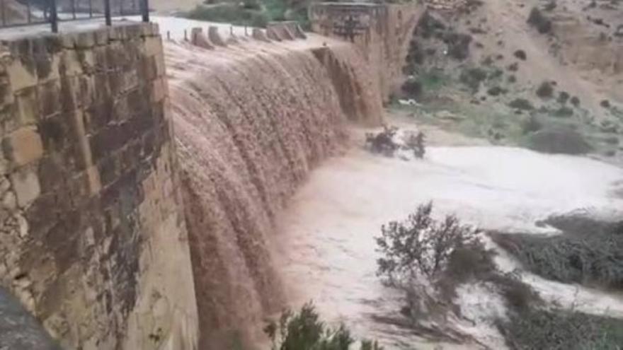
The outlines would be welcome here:
[[[375,276],[373,238],[383,223],[402,220],[430,200],[435,216],[453,213],[481,228],[505,231],[548,231],[537,228],[535,221],[578,208],[623,209],[623,199],[614,195],[623,171],[612,165],[508,147],[427,151],[422,161],[401,161],[353,150],[311,173],[282,215],[278,236],[282,272],[295,304],[313,300],[323,317],[345,322],[358,337],[377,337],[390,349],[415,344],[432,349],[406,329],[372,319],[395,315],[400,307],[399,296]],[[497,261],[503,269],[518,267],[508,255]],[[561,305],[623,316],[621,296],[530,274],[524,279]],[[503,348],[486,321],[488,315],[504,313],[501,301],[480,286],[465,286],[459,289],[458,302],[476,322],[459,328],[488,346]]]

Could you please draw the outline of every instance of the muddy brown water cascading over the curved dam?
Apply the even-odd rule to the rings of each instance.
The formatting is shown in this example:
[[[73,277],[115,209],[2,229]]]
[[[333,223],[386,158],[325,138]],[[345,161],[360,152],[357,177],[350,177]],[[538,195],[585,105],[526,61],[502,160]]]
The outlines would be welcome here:
[[[216,50],[168,43],[166,64],[201,333],[212,342],[280,310],[275,214],[340,152],[347,122],[379,124],[382,110],[355,49],[313,35]]]

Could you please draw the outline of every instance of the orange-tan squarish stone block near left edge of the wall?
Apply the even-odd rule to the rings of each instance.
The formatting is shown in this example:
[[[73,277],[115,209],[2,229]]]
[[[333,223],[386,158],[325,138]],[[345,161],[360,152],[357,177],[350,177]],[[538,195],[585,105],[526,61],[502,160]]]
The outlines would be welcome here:
[[[23,127],[2,142],[4,154],[18,166],[26,165],[43,155],[41,136],[35,127]]]

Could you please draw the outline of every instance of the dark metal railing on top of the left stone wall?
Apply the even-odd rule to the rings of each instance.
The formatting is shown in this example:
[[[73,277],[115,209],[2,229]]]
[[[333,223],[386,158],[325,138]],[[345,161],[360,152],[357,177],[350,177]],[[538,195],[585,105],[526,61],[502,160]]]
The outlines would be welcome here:
[[[49,23],[58,33],[59,22],[142,16],[149,22],[149,0],[0,0],[0,29]]]

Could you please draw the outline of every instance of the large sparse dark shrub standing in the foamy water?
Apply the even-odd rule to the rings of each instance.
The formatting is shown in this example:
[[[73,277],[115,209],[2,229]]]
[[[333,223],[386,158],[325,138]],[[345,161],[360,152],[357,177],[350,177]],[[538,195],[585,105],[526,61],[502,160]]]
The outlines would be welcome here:
[[[432,211],[430,202],[418,206],[406,221],[382,226],[382,235],[375,238],[381,253],[377,274],[404,291],[405,315],[417,322],[426,317],[430,305],[451,304],[457,287],[474,281],[492,285],[513,310],[541,303],[518,276],[499,272],[494,252],[486,249],[479,230],[452,215],[437,221]]]

